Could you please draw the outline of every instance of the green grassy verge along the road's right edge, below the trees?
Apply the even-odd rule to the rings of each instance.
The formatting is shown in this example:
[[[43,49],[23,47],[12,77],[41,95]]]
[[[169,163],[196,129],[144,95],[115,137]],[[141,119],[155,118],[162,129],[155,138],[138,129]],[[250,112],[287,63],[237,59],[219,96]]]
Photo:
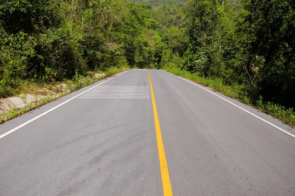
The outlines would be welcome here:
[[[287,109],[284,106],[272,102],[266,102],[261,96],[258,100],[257,98],[252,98],[247,94],[246,87],[244,85],[226,85],[220,78],[200,77],[197,73],[181,71],[179,68],[175,67],[167,67],[166,71],[175,75],[185,77],[204,86],[210,87],[211,89],[213,89],[213,91],[220,92],[230,98],[235,98],[247,105],[253,106],[256,109],[259,109],[260,111],[281,120],[284,123],[295,126],[295,112],[293,108]]]

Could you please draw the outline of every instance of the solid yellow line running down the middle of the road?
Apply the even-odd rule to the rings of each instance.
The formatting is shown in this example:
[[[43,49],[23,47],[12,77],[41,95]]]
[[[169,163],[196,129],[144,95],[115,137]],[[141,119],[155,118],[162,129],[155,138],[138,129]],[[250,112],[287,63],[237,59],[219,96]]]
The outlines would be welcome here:
[[[152,108],[154,112],[154,120],[155,120],[155,128],[156,128],[156,136],[157,136],[157,144],[158,144],[158,152],[159,152],[159,160],[160,160],[160,170],[162,176],[162,185],[163,185],[163,195],[164,196],[172,196],[172,188],[170,183],[170,177],[168,172],[168,166],[166,161],[166,155],[163,145],[162,133],[158,118],[158,112],[156,107],[156,101],[152,89],[150,74],[148,70],[148,78],[149,78],[149,85],[150,85],[150,93],[151,93],[151,100],[152,100]]]

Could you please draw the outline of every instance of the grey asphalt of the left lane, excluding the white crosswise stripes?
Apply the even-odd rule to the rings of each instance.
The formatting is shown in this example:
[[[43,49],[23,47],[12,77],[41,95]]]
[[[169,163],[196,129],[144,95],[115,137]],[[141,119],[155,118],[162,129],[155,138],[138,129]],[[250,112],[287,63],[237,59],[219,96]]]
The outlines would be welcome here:
[[[118,85],[149,88],[148,72],[99,88]],[[162,193],[150,99],[75,98],[2,138],[0,154],[1,196]]]

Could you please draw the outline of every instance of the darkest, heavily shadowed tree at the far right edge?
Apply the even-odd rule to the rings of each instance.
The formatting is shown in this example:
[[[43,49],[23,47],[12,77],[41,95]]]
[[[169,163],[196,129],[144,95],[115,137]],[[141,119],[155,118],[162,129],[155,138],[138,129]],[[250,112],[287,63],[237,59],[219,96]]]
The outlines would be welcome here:
[[[295,1],[245,1],[250,12],[248,70],[256,76],[259,94],[295,105]]]

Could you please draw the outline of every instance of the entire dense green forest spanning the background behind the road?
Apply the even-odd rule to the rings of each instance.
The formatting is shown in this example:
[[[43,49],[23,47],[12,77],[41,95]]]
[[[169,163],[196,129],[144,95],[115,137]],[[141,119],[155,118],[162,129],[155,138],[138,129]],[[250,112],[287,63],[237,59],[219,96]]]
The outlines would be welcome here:
[[[2,0],[0,97],[24,81],[169,68],[294,107],[294,44],[294,0]]]

